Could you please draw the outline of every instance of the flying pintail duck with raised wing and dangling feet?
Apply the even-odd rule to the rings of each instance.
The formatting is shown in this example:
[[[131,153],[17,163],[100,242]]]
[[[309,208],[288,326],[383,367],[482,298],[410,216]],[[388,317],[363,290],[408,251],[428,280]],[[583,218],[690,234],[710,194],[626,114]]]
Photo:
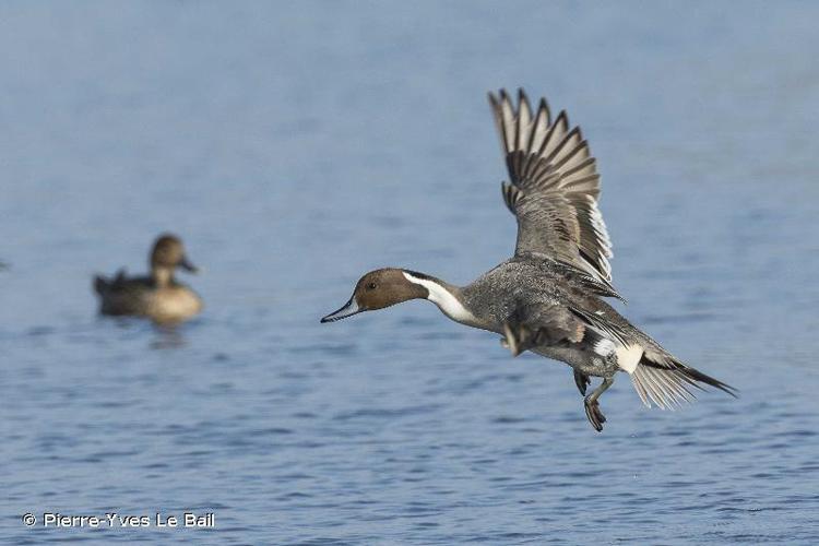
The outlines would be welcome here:
[[[321,322],[428,299],[456,322],[501,334],[513,356],[531,351],[568,364],[597,431],[606,422],[598,399],[618,372],[631,377],[649,407],[692,402],[693,389],[703,384],[735,396],[732,387],[684,364],[603,300],[622,297],[612,285],[600,175],[580,128],[571,128],[566,111],[553,118],[544,98],[534,111],[523,90],[517,104],[502,90],[489,102],[510,178],[501,193],[518,221],[514,256],[466,286],[405,269],[371,271]],[[586,395],[592,377],[602,382]]]

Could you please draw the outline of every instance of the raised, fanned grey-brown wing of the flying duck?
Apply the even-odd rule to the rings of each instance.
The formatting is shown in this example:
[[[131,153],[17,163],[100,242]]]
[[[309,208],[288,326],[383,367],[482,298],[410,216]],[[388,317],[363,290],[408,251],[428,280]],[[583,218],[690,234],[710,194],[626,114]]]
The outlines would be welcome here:
[[[535,252],[612,281],[612,241],[597,209],[600,175],[580,128],[566,111],[551,120],[546,99],[533,115],[523,90],[489,94],[511,183],[503,200],[518,218],[515,256]]]

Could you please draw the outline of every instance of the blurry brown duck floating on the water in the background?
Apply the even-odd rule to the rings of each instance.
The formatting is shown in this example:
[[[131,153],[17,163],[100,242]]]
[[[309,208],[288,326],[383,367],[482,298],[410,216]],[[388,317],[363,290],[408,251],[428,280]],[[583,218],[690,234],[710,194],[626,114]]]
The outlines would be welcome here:
[[[127,277],[120,270],[114,278],[97,275],[94,289],[99,295],[102,314],[146,317],[155,322],[187,320],[202,310],[202,299],[174,277],[177,268],[198,270],[185,254],[182,241],[175,235],[161,235],[151,251],[151,274]]]

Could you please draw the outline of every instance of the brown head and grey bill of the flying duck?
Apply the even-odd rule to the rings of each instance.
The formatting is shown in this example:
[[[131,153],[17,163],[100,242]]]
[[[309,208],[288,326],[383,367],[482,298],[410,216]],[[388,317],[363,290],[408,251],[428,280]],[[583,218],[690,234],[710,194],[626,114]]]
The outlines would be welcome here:
[[[418,275],[418,273],[414,274]],[[375,311],[402,301],[428,296],[429,290],[417,283],[411,282],[404,270],[387,268],[370,271],[358,281],[349,301],[337,311],[321,319],[321,322],[333,322],[361,311]]]

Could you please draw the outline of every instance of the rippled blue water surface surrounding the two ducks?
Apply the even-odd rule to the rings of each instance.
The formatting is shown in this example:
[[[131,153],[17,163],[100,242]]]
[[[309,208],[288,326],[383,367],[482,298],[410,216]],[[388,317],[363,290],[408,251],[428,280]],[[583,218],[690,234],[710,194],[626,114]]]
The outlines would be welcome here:
[[[819,7],[0,5],[0,538],[816,544]],[[465,284],[514,221],[485,93],[583,127],[622,312],[735,387],[585,420],[570,370],[358,276]],[[164,230],[176,331],[96,316]],[[213,513],[215,529],[22,514]]]

